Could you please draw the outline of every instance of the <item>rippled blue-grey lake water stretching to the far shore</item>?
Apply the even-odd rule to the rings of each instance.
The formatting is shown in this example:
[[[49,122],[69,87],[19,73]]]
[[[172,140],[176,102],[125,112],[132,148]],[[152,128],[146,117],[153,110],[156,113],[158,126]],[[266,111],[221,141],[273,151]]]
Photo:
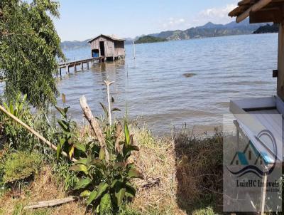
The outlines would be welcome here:
[[[277,34],[226,36],[188,41],[126,45],[125,61],[94,65],[89,70],[64,75],[58,82],[70,113],[82,120],[79,98],[87,97],[94,115],[107,104],[104,80],[115,81],[111,94],[126,114],[139,117],[155,134],[195,127],[196,132],[222,125],[229,100],[275,95]],[[89,48],[65,50],[71,60],[90,57]],[[65,71],[63,70],[65,74]],[[194,73],[185,77],[185,73]],[[60,98],[58,103],[61,103]]]

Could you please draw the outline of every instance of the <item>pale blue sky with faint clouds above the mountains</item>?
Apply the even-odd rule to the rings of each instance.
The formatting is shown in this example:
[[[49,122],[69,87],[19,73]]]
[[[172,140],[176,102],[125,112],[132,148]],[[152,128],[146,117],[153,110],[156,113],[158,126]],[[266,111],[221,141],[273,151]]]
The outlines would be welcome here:
[[[60,0],[55,27],[62,41],[83,41],[99,33],[124,38],[160,31],[228,23],[235,0]]]

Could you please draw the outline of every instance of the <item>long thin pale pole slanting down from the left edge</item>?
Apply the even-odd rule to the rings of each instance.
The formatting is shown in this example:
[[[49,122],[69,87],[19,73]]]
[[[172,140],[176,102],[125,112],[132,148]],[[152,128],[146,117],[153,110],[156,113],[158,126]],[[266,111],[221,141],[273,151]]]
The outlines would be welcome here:
[[[4,112],[6,115],[8,115],[9,117],[11,117],[13,120],[15,120],[16,122],[18,122],[20,125],[22,125],[23,127],[25,127],[28,131],[30,131],[31,133],[33,133],[33,135],[35,135],[35,137],[38,137],[38,139],[40,139],[41,141],[43,141],[46,145],[48,145],[49,147],[51,147],[53,150],[57,150],[57,147],[55,145],[53,145],[51,142],[49,142],[48,140],[45,139],[45,137],[43,137],[42,135],[40,135],[38,132],[36,132],[35,130],[33,130],[31,127],[29,127],[28,125],[26,125],[25,122],[23,122],[22,120],[18,119],[18,117],[14,116],[13,114],[11,114],[11,112],[8,112],[3,106],[0,105],[0,110],[2,112]],[[66,154],[66,152],[62,152],[62,155],[65,157],[68,157],[70,159],[70,157],[68,156],[68,154]],[[72,161],[76,161],[76,159],[72,159]]]

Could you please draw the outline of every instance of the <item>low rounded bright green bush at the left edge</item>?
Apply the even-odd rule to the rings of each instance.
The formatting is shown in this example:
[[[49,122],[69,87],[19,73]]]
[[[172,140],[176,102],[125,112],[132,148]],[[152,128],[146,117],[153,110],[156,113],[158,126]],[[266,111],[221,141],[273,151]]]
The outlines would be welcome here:
[[[7,154],[3,164],[3,182],[5,184],[13,183],[30,177],[38,170],[40,163],[40,155],[35,152],[18,151]]]

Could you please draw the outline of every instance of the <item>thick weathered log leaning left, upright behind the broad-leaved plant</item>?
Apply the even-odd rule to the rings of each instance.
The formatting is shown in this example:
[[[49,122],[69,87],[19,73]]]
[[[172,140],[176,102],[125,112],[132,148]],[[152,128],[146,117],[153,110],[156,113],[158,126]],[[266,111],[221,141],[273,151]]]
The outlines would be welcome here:
[[[84,97],[84,95],[82,96],[82,98],[80,98],[80,105],[84,112],[84,117],[86,117],[87,121],[91,125],[92,130],[94,130],[94,134],[96,135],[97,140],[99,141],[99,145],[104,150],[104,156],[106,158],[106,161],[109,162],[109,152],[107,151],[107,144],[104,140],[104,134],[101,128],[99,127],[99,122],[93,116],[91,109],[89,109],[89,105],[87,104],[87,99]]]

